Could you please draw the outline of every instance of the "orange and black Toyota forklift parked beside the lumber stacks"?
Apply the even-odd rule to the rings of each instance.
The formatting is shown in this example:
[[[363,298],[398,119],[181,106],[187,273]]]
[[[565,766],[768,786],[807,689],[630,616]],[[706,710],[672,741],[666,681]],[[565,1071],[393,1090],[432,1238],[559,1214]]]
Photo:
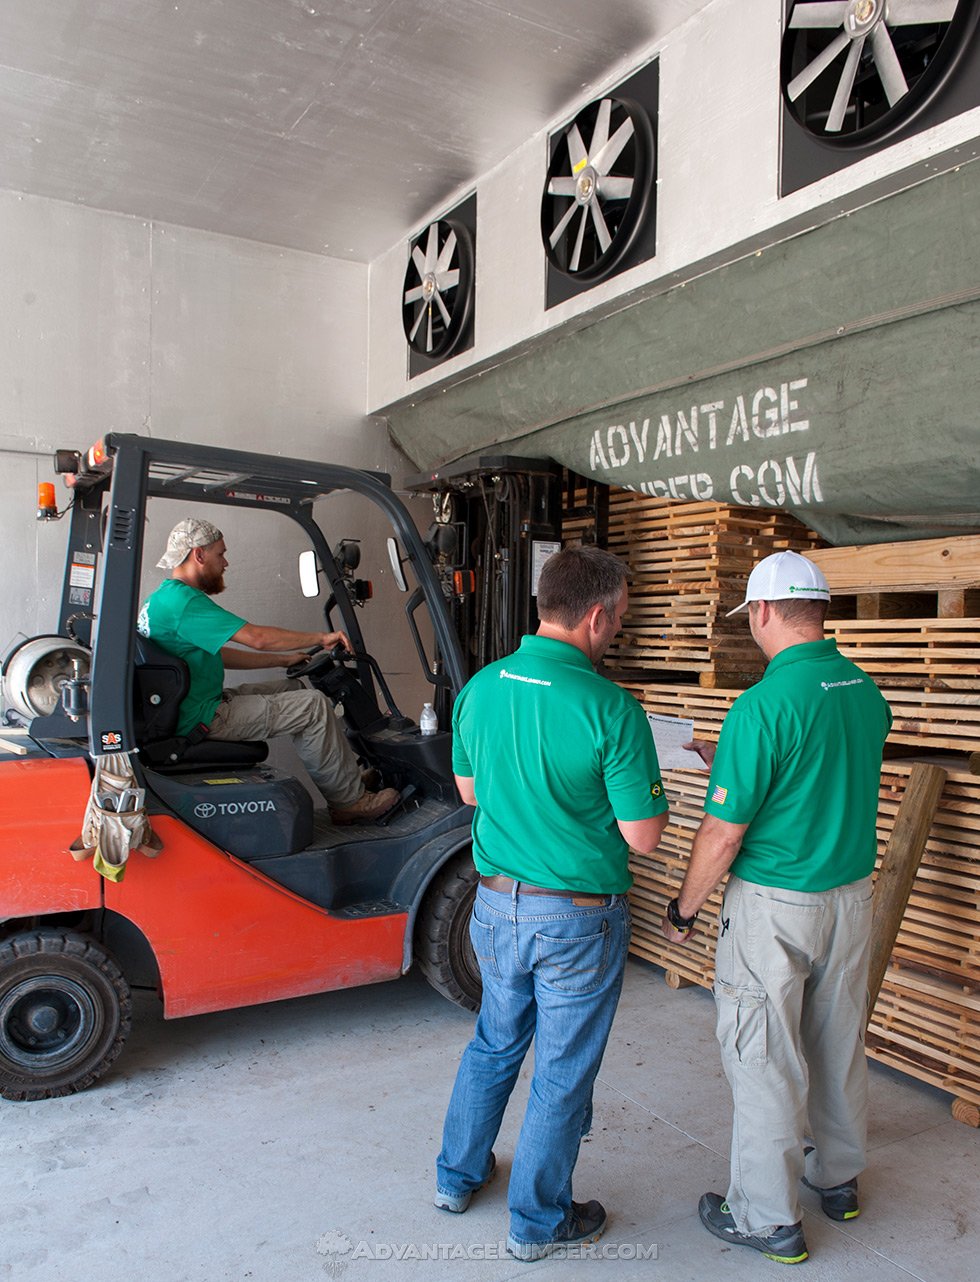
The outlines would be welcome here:
[[[122,433],[58,451],[55,467],[72,492],[58,626],[1,669],[0,1095],[63,1096],[103,1077],[133,987],[154,988],[176,1018],[394,979],[417,962],[477,1009],[472,810],[455,791],[449,731],[467,664],[432,540],[390,478]],[[41,490],[38,518],[64,515],[50,483]],[[319,519],[339,492],[387,519],[435,733],[396,706],[366,647],[357,541],[331,550]],[[176,735],[186,665],[136,627],[146,514],[167,504],[177,517],[189,504],[271,513],[303,531],[304,591],[326,582],[326,631],[342,629],[353,654],[312,654],[292,674],[334,703],[362,768],[398,790],[381,822],[335,827],[299,778],[268,764],[264,742]],[[135,850],[118,876],[69,854],[109,754],[132,770],[126,805],[160,847]]]

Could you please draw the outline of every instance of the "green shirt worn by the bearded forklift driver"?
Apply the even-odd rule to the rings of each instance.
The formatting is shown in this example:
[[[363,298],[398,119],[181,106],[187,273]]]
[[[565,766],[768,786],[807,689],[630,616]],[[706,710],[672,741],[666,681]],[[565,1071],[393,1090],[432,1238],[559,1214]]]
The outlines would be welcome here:
[[[222,609],[199,588],[167,578],[140,606],[136,627],[187,664],[190,690],[181,703],[177,733],[210,726],[224,685],[219,651],[245,627],[245,619]]]

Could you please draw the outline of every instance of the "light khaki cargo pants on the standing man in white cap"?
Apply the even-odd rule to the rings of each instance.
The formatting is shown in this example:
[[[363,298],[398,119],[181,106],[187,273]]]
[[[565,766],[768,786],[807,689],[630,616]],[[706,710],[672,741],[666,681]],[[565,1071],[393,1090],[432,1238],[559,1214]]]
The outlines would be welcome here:
[[[800,1219],[865,1168],[871,878],[820,894],[731,877],[718,927],[717,1036],[735,1115],[727,1203],[741,1233]]]

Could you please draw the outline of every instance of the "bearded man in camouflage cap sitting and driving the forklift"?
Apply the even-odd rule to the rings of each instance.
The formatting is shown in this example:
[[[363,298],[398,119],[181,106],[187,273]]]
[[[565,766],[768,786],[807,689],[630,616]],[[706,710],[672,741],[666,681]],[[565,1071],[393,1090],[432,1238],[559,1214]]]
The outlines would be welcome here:
[[[398,801],[395,788],[368,792],[357,758],[326,695],[299,681],[271,681],[224,690],[224,669],[289,668],[305,659],[304,646],[350,642],[342,632],[294,632],[248,623],[212,597],[224,591],[224,537],[209,520],[187,517],[156,562],[171,578],[140,608],[137,628],[187,664],[190,690],[181,703],[177,735],[199,727],[208,738],[272,738],[289,735],[335,823],[369,822]],[[235,641],[244,650],[227,642]]]

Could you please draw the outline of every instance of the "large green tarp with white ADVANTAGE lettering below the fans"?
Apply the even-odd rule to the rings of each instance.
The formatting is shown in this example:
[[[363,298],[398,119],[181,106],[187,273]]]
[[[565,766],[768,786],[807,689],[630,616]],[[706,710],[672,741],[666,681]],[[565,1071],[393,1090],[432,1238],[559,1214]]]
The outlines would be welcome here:
[[[561,332],[389,414],[419,469],[550,456],[830,542],[980,529],[980,164]]]

